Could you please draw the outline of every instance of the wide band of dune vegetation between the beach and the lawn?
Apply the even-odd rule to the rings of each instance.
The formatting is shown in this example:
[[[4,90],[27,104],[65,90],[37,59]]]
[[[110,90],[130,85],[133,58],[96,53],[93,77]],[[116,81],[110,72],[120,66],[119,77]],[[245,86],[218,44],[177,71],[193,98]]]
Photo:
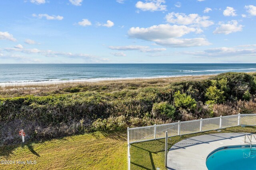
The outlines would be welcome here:
[[[185,79],[185,78],[183,78]],[[0,90],[0,145],[256,112],[256,74]],[[189,81],[188,81],[189,80]]]

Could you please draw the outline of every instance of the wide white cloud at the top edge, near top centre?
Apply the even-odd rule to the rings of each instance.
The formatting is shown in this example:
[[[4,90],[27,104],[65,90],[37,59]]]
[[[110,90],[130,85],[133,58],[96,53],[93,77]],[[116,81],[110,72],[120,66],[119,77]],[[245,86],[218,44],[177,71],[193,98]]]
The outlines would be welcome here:
[[[166,5],[163,5],[165,0],[146,0],[146,2],[138,1],[136,3],[136,8],[142,11],[165,11]]]

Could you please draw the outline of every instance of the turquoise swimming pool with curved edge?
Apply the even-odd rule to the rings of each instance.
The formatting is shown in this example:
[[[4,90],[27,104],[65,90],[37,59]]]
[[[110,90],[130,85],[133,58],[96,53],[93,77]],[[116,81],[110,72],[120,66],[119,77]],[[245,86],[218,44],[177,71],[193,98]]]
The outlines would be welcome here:
[[[206,166],[208,170],[256,170],[256,154],[250,154],[250,145],[221,147],[208,155]]]

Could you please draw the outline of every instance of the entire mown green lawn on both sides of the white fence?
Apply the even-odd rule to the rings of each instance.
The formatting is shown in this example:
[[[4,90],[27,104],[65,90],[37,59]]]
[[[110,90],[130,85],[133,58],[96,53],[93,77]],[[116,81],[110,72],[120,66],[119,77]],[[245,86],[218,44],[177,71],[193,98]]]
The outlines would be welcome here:
[[[248,132],[256,133],[256,127],[231,127],[221,133]],[[218,133],[208,131],[169,138],[169,148],[183,139]],[[88,133],[62,139],[52,139],[38,143],[26,143],[0,147],[0,160],[36,160],[34,165],[2,165],[0,170],[126,170],[127,142],[125,133]],[[147,141],[131,144],[132,170],[165,170],[164,140]]]

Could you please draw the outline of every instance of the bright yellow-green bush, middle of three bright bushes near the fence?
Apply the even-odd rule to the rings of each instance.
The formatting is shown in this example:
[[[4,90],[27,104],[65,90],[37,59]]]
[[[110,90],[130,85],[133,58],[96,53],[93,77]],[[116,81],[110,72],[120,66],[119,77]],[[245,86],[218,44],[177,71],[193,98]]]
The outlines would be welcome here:
[[[174,94],[174,104],[176,107],[194,109],[196,107],[196,100],[194,100],[190,95],[180,93],[180,91],[178,91]]]

